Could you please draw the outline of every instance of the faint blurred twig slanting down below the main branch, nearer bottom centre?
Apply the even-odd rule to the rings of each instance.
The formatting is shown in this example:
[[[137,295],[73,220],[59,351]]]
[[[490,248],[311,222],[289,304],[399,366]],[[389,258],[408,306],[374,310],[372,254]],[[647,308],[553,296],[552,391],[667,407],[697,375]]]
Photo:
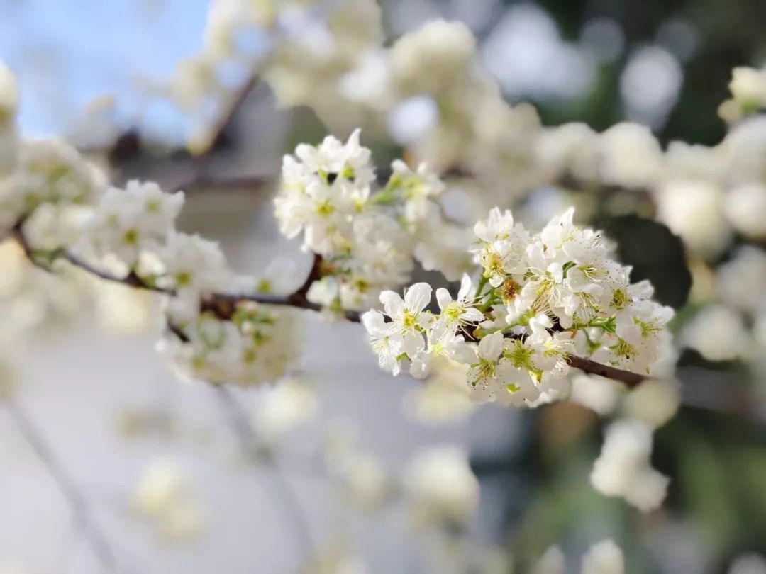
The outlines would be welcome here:
[[[295,492],[290,487],[290,483],[286,480],[277,461],[269,452],[264,451],[258,445],[252,426],[250,426],[250,421],[247,419],[247,413],[244,412],[240,403],[234,399],[230,390],[224,386],[218,386],[216,391],[221,408],[224,409],[227,419],[231,423],[231,430],[237,437],[242,452],[247,456],[248,461],[260,462],[269,471],[274,489],[277,491],[277,496],[282,501],[286,518],[290,520],[293,532],[298,539],[300,552],[303,554],[303,561],[308,560],[313,555],[313,541],[309,532],[309,525],[303,517],[303,510],[300,508],[298,497],[296,497]]]

